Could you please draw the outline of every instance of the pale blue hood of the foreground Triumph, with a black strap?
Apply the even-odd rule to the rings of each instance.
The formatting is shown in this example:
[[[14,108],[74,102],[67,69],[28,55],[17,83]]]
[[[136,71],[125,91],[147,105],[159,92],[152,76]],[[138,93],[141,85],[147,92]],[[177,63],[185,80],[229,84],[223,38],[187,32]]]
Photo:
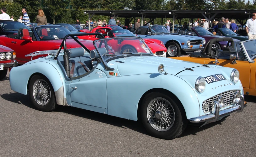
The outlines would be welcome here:
[[[110,66],[112,68],[117,68],[118,72],[121,76],[128,75],[139,75],[139,74],[150,74],[150,73],[159,73],[158,66],[160,64],[164,65],[164,70],[168,74],[172,75],[195,75],[195,76],[210,76],[214,74],[219,74],[220,71],[218,68],[214,68],[216,65],[209,67],[205,67],[203,65],[192,63],[183,60],[174,60],[171,58],[162,58],[162,57],[153,57],[153,56],[134,56],[127,58],[119,58],[118,61],[122,61],[124,63],[114,64],[115,67]],[[113,65],[113,63],[117,63],[112,60],[108,62],[108,65]],[[186,68],[191,68],[190,70]],[[209,70],[211,69],[211,70]],[[164,72],[163,72],[164,73]]]

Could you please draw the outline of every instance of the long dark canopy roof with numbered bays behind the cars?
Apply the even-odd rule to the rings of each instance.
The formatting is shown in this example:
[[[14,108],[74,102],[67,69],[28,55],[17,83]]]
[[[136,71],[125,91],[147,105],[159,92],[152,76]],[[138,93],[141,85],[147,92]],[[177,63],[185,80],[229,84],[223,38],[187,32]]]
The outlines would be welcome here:
[[[246,19],[250,18],[252,13],[255,13],[256,9],[236,9],[236,10],[85,10],[84,14],[89,14],[89,21],[93,15],[104,15],[104,16],[114,16],[128,18],[129,22],[134,20],[136,17],[141,18],[141,25],[143,25],[144,18],[150,18],[150,22],[154,24],[155,18],[173,18],[173,27],[175,19],[180,20],[182,18],[204,18],[208,23],[214,18],[235,18],[237,21],[244,25]],[[208,25],[210,26],[210,24]]]

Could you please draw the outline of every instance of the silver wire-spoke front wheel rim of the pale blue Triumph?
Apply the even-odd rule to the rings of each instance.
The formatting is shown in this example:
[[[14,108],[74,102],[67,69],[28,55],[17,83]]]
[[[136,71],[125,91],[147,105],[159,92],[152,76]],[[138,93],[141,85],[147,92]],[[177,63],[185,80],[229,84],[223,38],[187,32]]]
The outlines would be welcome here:
[[[147,108],[147,118],[150,125],[158,131],[167,131],[172,128],[175,113],[172,104],[161,97],[153,99]]]

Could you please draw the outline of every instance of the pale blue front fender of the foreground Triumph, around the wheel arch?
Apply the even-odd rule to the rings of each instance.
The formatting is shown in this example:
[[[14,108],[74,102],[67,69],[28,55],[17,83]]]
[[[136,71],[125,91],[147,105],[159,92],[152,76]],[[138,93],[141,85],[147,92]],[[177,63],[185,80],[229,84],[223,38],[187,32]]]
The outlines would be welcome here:
[[[172,92],[182,103],[188,119],[200,115],[199,101],[191,86],[177,76],[159,73],[107,78],[108,114],[136,121],[141,97],[155,88]]]

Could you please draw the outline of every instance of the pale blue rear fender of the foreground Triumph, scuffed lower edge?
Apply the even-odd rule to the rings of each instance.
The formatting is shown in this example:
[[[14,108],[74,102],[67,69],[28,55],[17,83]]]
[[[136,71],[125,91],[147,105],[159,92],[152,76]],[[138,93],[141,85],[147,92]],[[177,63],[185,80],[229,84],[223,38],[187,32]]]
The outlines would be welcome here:
[[[47,77],[51,82],[56,95],[56,102],[59,105],[64,104],[63,77],[54,66],[46,62],[28,63],[26,65],[12,68],[10,71],[10,86],[15,92],[27,94],[28,81],[32,75],[40,73]]]

